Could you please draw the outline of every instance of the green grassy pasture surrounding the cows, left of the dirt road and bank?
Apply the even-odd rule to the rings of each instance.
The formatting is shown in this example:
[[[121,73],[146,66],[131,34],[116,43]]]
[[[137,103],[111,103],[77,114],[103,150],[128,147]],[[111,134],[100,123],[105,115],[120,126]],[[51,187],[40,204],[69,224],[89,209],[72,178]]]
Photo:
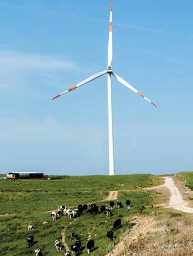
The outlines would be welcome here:
[[[124,176],[90,176],[90,177],[68,177],[55,180],[0,180],[0,214],[14,213],[9,217],[1,217],[0,225],[0,255],[32,255],[36,248],[40,248],[44,255],[62,255],[56,252],[54,240],[61,240],[61,231],[66,227],[66,241],[70,246],[72,241],[69,236],[76,231],[81,236],[82,245],[86,245],[86,240],[90,235],[95,240],[97,250],[92,255],[105,255],[114,244],[132,227],[129,218],[138,214],[141,205],[151,205],[151,197],[154,192],[137,190],[139,187],[151,187],[159,185],[159,178],[155,177],[151,181],[150,175],[124,175]],[[133,191],[136,189],[136,191]],[[75,220],[61,217],[56,222],[52,222],[50,213],[58,205],[75,207],[79,203],[89,203],[103,200],[108,195],[108,191],[118,190],[118,199],[124,205],[126,199],[132,202],[132,211],[127,212],[126,207],[113,210],[113,216],[99,214],[92,216],[81,215]],[[132,190],[132,191],[129,191]],[[151,197],[150,197],[151,196]],[[98,205],[108,206],[108,202],[98,202]],[[147,208],[141,214],[149,214],[151,208]],[[122,228],[114,232],[116,240],[110,242],[106,238],[107,231],[112,228],[112,224],[117,218],[122,220]],[[48,224],[42,224],[47,221]],[[34,229],[30,234],[34,235],[37,242],[32,248],[26,245],[26,237],[29,222],[32,222]],[[69,224],[71,222],[71,224]],[[82,255],[86,255],[83,251]]]

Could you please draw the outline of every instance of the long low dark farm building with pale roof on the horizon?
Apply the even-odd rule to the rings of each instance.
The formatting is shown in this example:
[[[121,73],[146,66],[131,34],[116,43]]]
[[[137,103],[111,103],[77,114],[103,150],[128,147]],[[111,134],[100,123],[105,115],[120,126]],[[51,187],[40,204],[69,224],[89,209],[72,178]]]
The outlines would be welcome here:
[[[42,172],[6,172],[7,179],[36,179],[44,178]]]

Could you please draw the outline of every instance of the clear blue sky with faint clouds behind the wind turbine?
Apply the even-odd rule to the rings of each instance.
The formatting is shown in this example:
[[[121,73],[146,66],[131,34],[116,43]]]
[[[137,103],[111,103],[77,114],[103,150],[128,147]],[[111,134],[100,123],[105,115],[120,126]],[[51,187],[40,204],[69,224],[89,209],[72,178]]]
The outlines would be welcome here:
[[[113,1],[117,174],[193,169],[193,2]],[[0,2],[0,171],[108,174],[109,1]]]

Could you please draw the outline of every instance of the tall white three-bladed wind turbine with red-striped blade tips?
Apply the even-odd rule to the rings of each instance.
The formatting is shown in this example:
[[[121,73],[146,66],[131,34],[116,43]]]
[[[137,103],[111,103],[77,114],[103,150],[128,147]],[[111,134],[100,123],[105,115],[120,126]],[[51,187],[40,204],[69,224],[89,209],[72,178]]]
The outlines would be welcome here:
[[[131,89],[131,91],[134,91],[136,94],[138,94],[140,97],[145,99],[145,101],[148,101],[150,104],[152,104],[154,107],[157,107],[157,105],[149,100],[145,95],[143,95],[140,91],[132,87],[128,82],[126,82],[124,79],[119,77],[115,72],[112,70],[112,0],[111,0],[111,7],[110,7],[110,22],[109,22],[109,42],[108,42],[108,66],[105,71],[96,73],[95,75],[92,75],[89,78],[86,78],[84,81],[79,82],[79,84],[76,84],[74,87],[69,88],[68,90],[62,92],[61,94],[56,95],[52,99],[56,99],[61,97],[64,94],[67,94],[68,92],[73,91],[76,88],[81,87],[84,84],[87,84],[88,82],[91,82],[95,80],[96,78],[102,77],[102,75],[107,74],[107,84],[108,84],[108,134],[109,134],[109,175],[115,175],[115,168],[114,168],[114,145],[113,145],[113,128],[112,128],[112,97],[111,97],[111,77],[112,75],[117,78],[121,84],[125,85],[125,87]]]

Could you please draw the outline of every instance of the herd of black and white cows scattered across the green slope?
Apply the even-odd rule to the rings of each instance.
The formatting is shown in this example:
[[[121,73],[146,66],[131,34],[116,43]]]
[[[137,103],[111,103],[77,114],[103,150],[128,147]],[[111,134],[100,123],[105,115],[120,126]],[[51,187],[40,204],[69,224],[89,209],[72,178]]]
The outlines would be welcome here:
[[[105,205],[102,205],[101,207],[99,207],[95,203],[89,204],[89,205],[79,204],[77,208],[75,208],[74,210],[71,210],[68,207],[61,205],[58,207],[58,211],[53,210],[51,212],[51,217],[52,217],[53,221],[56,221],[56,219],[61,217],[62,215],[64,215],[66,218],[71,218],[71,219],[78,218],[82,214],[90,214],[90,215],[107,214],[108,217],[111,217],[113,215],[112,209],[115,206],[115,202],[110,201],[109,206],[110,206],[110,208],[106,207]],[[126,201],[126,206],[127,206],[127,211],[130,211],[131,210],[131,201],[130,200]],[[119,209],[119,208],[123,208],[123,207],[124,207],[124,205],[122,204],[122,202],[118,201],[117,208]],[[117,230],[118,228],[121,228],[121,219],[120,218],[114,222],[112,229],[107,232],[108,240],[110,240],[110,241],[115,240],[114,231]],[[85,247],[82,247],[81,238],[78,236],[78,234],[76,234],[76,232],[71,234],[71,240],[74,241],[74,244],[71,245],[72,255],[81,254],[81,251],[84,250]],[[28,236],[27,243],[28,243],[28,247],[32,247],[32,245],[34,243],[34,237],[32,235]],[[61,242],[59,240],[55,240],[55,247],[56,247],[57,251],[62,251],[63,245],[61,244]],[[95,250],[95,242],[94,242],[94,240],[89,240],[86,244],[86,251],[89,254],[90,252],[92,252],[94,250]],[[41,250],[35,250],[34,253],[36,256],[43,256]],[[71,255],[71,252],[69,252],[69,251],[65,252],[65,254],[64,254],[64,256],[70,256],[70,255]]]

